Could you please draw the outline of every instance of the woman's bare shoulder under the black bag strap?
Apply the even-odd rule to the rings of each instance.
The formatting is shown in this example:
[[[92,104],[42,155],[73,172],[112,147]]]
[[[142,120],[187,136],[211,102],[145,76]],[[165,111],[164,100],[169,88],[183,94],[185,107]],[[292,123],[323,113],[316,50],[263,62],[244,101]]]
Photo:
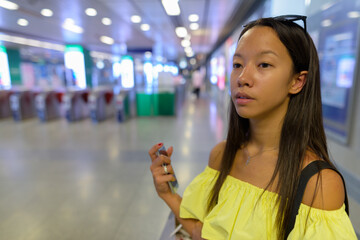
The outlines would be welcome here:
[[[305,166],[312,162],[306,161]],[[339,209],[345,200],[344,183],[341,176],[331,169],[323,169],[312,176],[306,185],[302,203],[318,209]]]

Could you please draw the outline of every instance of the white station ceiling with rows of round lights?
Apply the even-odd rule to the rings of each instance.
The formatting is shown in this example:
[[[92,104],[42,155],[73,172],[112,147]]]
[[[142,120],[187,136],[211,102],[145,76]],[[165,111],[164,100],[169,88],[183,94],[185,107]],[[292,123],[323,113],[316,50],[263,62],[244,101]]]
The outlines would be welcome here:
[[[161,0],[13,0],[20,8],[16,11],[0,8],[0,32],[53,43],[81,44],[92,51],[113,54],[120,54],[126,44],[130,53],[150,49],[154,55],[176,60],[185,55],[181,39],[175,34],[176,26],[185,26],[191,33],[195,54],[206,55],[219,40],[234,11],[246,1],[250,0],[179,0],[180,16],[169,17]],[[85,14],[84,10],[89,7],[97,10],[96,16]],[[51,9],[54,15],[42,16],[43,8]],[[200,28],[191,31],[188,16],[194,13],[200,17]],[[148,23],[151,29],[141,31],[140,24],[130,21],[134,14],[140,15],[142,23]],[[103,17],[110,18],[112,25],[103,25]],[[19,18],[27,19],[29,25],[19,26]],[[84,32],[76,34],[64,30],[61,26],[66,18],[73,18]],[[113,38],[115,43],[110,46],[100,42],[103,35]]]

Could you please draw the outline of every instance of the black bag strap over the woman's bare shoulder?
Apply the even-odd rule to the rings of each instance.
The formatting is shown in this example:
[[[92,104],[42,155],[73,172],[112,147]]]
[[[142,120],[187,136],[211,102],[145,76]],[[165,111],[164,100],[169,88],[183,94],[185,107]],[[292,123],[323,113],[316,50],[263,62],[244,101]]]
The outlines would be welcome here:
[[[296,192],[296,195],[295,195],[294,205],[293,205],[293,208],[291,209],[291,215],[290,215],[289,224],[286,227],[286,232],[285,232],[285,238],[284,239],[287,239],[290,232],[294,228],[296,216],[297,216],[297,214],[299,212],[299,207],[300,207],[300,204],[302,202],[302,198],[303,198],[303,195],[304,195],[304,192],[305,192],[306,184],[308,183],[309,179],[312,176],[314,176],[316,173],[320,172],[322,169],[334,170],[335,172],[337,172],[340,175],[341,179],[343,180],[344,190],[345,190],[345,201],[344,201],[344,203],[345,203],[345,211],[349,215],[349,204],[348,204],[346,186],[345,186],[345,181],[344,181],[343,176],[341,175],[341,173],[338,170],[333,168],[328,162],[325,162],[325,161],[322,161],[322,160],[313,161],[310,164],[308,164],[301,171],[300,181],[299,181],[298,189],[297,189],[297,192]]]

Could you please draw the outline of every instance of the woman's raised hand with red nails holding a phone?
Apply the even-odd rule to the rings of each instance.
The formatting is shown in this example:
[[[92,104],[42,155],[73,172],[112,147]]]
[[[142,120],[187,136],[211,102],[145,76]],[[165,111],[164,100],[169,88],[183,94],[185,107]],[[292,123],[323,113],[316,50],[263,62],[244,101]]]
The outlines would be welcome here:
[[[149,156],[151,158],[152,164],[150,166],[151,173],[154,179],[154,185],[156,192],[159,197],[163,198],[166,194],[171,193],[168,182],[174,181],[174,171],[171,166],[170,157],[173,153],[173,148],[169,147],[166,152],[168,156],[159,155],[157,156],[157,151],[162,147],[162,143],[152,146],[149,150]],[[165,172],[163,164],[166,164],[166,169],[168,174]]]

